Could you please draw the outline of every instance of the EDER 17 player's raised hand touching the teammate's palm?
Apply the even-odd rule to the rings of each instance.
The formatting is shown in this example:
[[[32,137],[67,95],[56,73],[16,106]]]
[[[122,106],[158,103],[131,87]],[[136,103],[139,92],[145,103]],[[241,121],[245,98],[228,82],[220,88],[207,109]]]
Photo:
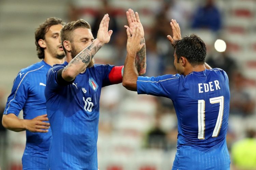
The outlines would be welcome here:
[[[127,33],[127,54],[131,54],[132,56],[136,57],[136,53],[142,49],[142,47],[145,45],[140,44],[141,39],[141,31],[137,26],[134,26],[132,29],[132,35],[130,34],[129,28],[126,28]]]

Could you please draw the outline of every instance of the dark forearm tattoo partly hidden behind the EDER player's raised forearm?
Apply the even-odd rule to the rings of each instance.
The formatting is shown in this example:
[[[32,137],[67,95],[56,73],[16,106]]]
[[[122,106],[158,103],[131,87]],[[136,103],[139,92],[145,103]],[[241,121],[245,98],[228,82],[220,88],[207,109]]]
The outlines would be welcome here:
[[[145,43],[145,39],[141,39],[140,44]],[[142,49],[136,54],[135,66],[141,75],[145,72],[146,69],[146,46],[143,46]]]

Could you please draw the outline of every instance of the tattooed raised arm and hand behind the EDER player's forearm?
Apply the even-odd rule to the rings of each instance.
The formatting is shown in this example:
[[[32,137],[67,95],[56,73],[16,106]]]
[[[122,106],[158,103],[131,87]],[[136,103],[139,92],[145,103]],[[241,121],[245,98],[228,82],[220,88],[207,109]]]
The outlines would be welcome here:
[[[129,28],[130,34],[132,34],[133,27],[137,26],[140,30],[140,44],[145,44],[145,38],[144,38],[144,30],[143,26],[140,22],[139,14],[138,12],[134,13],[132,9],[129,9],[126,11],[126,17],[128,26],[125,26],[125,28]],[[146,72],[146,46],[143,46],[140,51],[136,53],[136,60],[135,60],[135,66],[139,72],[139,75],[143,75]]]

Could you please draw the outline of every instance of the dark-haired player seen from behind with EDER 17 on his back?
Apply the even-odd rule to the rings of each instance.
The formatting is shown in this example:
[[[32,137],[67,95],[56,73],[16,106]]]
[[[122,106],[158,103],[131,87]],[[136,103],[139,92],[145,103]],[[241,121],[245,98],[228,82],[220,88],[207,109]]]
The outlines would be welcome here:
[[[205,64],[206,47],[196,35],[181,38],[179,24],[171,21],[174,66],[178,74],[141,77],[134,66],[136,51],[127,45],[123,86],[138,94],[172,100],[178,119],[177,152],[173,170],[228,170],[226,145],[229,82],[225,71]],[[130,38],[127,31],[128,39]],[[128,43],[127,43],[128,44]],[[137,50],[132,50],[137,49]]]

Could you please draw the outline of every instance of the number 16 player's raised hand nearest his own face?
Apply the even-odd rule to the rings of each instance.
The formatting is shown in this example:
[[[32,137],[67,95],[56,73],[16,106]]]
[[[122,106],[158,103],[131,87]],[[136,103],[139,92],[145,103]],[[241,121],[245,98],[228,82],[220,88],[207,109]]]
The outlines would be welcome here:
[[[110,37],[113,33],[112,30],[109,30],[109,14],[105,14],[100,22],[100,27],[97,34],[97,39],[103,43],[106,44],[109,42]]]

